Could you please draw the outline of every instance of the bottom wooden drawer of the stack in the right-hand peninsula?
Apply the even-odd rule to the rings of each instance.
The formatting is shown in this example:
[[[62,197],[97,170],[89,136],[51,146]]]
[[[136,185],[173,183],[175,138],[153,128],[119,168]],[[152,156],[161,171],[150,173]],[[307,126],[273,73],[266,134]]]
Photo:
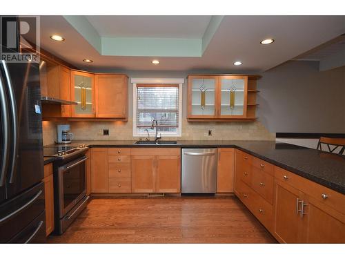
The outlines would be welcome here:
[[[244,182],[240,182],[237,195],[246,207],[269,230],[273,229],[273,206]]]

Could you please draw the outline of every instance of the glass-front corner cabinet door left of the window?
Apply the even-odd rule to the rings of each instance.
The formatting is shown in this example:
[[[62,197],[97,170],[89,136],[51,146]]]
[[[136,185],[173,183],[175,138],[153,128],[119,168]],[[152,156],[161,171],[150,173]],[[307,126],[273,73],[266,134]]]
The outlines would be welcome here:
[[[72,117],[95,117],[95,75],[71,70]]]

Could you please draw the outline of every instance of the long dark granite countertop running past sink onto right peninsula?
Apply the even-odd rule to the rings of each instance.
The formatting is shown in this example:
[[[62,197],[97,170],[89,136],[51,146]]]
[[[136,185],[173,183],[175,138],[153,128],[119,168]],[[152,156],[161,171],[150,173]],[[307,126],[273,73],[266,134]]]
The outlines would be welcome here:
[[[75,140],[70,146],[86,144],[89,147],[178,147],[210,148],[233,147],[296,173],[308,180],[345,194],[345,157],[311,148],[275,141],[178,141],[177,144],[144,145],[135,141]],[[55,146],[55,145],[50,145]]]

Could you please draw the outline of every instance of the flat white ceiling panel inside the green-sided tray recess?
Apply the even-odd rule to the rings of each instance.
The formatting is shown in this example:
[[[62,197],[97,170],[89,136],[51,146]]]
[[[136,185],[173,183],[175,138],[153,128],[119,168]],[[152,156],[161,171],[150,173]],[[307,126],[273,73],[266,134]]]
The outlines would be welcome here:
[[[201,39],[211,16],[87,15],[101,37]]]

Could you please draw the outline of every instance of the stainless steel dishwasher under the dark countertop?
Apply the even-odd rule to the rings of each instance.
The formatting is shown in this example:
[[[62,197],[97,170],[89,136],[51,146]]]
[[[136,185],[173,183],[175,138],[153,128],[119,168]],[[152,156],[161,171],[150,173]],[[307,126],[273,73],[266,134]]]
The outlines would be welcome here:
[[[182,148],[182,193],[215,193],[217,148]]]

